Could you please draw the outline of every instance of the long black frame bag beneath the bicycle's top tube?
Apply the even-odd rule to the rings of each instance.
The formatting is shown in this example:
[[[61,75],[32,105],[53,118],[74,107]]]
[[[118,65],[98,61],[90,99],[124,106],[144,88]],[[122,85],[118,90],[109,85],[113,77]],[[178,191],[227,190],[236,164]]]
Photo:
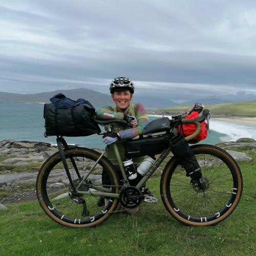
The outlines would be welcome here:
[[[127,157],[154,156],[161,154],[170,143],[171,135],[157,136],[138,140],[124,141],[125,155]]]

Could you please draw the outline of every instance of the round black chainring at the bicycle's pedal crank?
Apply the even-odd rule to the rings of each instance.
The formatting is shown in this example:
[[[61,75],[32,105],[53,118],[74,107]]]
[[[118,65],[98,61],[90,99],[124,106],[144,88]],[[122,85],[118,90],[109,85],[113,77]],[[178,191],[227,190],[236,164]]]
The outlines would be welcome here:
[[[133,186],[124,186],[119,191],[119,201],[125,208],[136,208],[144,197],[141,191]]]

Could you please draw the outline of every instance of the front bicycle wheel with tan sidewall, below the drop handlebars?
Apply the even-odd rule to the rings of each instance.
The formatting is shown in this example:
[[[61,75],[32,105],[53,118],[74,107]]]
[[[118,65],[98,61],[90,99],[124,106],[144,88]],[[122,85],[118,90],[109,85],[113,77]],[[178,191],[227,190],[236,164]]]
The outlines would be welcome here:
[[[190,226],[211,226],[227,218],[237,207],[243,179],[237,162],[222,148],[196,145],[191,149],[202,171],[204,189],[186,176],[176,157],[166,164],[160,191],[165,208]]]

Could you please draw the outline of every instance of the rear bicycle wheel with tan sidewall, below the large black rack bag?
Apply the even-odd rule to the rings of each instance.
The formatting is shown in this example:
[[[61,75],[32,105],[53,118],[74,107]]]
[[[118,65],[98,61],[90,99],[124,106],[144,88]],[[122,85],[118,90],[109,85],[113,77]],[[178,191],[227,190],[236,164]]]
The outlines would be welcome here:
[[[81,178],[95,164],[100,154],[89,148],[71,147],[64,150],[66,161],[74,184],[78,185]],[[102,157],[89,176],[91,184],[102,185],[102,171],[111,184],[111,193],[118,193],[120,180],[115,167]],[[79,188],[88,189],[85,185]],[[99,197],[78,194],[71,196],[71,185],[63,167],[59,152],[52,155],[42,165],[36,180],[36,194],[40,206],[55,222],[73,228],[94,227],[107,220],[118,205],[118,199],[110,198],[108,205],[98,206]],[[89,189],[90,191],[90,189]],[[79,203],[78,203],[79,202]]]

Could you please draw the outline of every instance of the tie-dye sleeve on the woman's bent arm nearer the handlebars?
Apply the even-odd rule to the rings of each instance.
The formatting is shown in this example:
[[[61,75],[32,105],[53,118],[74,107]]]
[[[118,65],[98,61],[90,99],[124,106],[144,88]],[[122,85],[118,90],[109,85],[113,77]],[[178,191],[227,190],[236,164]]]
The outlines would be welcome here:
[[[144,109],[144,106],[141,103],[137,103],[135,109],[135,117],[137,119],[138,126],[135,128],[120,131],[119,134],[121,139],[131,139],[138,136],[139,134],[142,133],[144,127],[147,125],[148,117]]]

